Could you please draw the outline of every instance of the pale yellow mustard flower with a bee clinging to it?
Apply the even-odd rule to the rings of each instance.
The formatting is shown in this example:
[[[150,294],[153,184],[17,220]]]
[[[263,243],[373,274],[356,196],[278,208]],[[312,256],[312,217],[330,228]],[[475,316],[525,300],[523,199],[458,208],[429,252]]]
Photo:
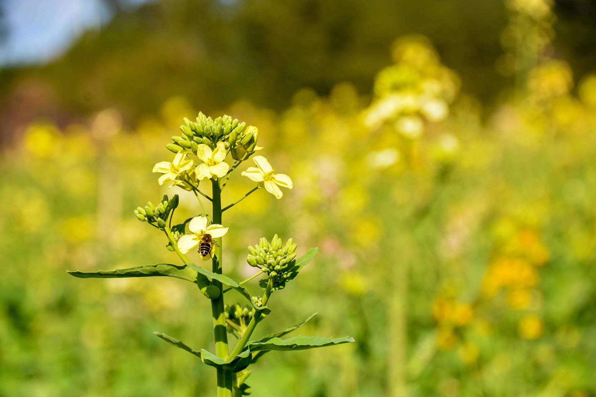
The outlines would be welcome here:
[[[182,254],[186,254],[198,246],[203,261],[213,258],[215,246],[213,239],[222,237],[228,232],[228,228],[221,224],[209,224],[206,217],[194,217],[188,224],[188,230],[192,234],[180,237],[178,249]]]

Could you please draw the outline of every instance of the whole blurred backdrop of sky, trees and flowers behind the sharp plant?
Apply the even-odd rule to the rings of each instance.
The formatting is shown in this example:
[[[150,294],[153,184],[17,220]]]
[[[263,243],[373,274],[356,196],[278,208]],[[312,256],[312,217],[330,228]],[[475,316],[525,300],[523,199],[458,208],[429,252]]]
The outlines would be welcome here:
[[[198,111],[294,180],[225,213],[225,272],[261,236],[319,247],[256,336],[318,311],[303,333],[357,341],[268,355],[255,395],[596,396],[594,2],[0,10],[0,396],[213,395],[151,335],[211,347],[195,288],[66,274],[176,261],[132,211],[173,194],[151,167]]]

